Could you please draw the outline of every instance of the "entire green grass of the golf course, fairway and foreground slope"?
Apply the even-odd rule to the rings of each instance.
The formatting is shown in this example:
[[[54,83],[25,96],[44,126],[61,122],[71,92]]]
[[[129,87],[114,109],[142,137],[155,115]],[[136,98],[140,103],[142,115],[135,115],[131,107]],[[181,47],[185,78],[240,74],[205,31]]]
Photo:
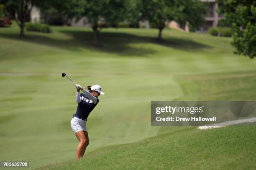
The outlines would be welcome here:
[[[230,37],[164,29],[51,26],[51,33],[0,28],[0,161],[23,169],[244,169],[256,165],[255,123],[198,130],[151,126],[151,100],[256,100],[256,60]],[[98,84],[85,156],[70,121],[76,83]],[[13,168],[9,168],[13,169]],[[19,169],[19,168],[17,168]]]

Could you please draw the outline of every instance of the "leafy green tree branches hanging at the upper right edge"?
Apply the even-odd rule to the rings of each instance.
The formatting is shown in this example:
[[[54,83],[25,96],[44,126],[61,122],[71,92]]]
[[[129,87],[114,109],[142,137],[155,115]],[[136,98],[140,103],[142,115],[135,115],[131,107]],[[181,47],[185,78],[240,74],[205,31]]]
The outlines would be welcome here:
[[[224,13],[225,22],[232,24],[231,44],[238,55],[256,57],[256,1],[218,0],[219,13]]]

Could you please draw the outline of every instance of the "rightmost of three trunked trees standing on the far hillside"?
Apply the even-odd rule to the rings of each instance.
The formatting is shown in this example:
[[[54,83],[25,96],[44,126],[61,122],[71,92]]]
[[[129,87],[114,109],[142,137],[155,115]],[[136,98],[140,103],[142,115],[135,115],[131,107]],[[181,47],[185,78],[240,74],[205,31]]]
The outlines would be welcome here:
[[[166,21],[175,20],[181,25],[186,21],[198,26],[204,21],[206,5],[199,0],[141,0],[142,19],[159,29],[158,40]]]

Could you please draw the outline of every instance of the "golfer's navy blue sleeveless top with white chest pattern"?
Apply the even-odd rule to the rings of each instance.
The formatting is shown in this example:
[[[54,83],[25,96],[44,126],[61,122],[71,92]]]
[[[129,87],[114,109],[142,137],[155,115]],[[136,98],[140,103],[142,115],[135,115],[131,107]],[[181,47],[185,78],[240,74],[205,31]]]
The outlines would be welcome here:
[[[99,99],[97,98],[97,103],[95,104],[84,93],[80,93],[80,97],[82,97],[82,100],[77,105],[76,115],[87,119],[90,112],[92,112],[94,107],[98,104]]]

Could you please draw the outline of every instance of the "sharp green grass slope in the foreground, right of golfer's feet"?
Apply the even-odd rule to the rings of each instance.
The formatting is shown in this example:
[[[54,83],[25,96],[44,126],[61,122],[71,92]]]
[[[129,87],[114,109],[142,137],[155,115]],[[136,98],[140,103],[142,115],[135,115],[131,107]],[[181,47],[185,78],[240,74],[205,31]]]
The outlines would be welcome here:
[[[82,160],[38,169],[252,170],[256,163],[255,131],[254,125],[172,133],[101,148]]]

